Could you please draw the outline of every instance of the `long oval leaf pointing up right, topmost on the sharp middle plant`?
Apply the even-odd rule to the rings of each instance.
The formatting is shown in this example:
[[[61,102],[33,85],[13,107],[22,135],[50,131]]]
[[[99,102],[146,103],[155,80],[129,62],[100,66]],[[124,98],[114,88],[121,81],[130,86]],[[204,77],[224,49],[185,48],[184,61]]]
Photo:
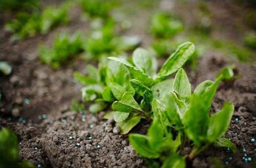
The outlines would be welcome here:
[[[194,52],[195,45],[191,42],[185,42],[179,45],[176,51],[170,55],[170,57],[163,64],[162,68],[158,72],[158,77],[156,80],[164,80],[168,76],[175,73],[186,63]]]

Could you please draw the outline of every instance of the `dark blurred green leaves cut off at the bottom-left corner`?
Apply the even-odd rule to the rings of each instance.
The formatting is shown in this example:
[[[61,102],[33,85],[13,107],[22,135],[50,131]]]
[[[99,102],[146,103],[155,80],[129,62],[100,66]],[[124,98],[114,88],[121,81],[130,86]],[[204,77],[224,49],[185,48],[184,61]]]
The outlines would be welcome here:
[[[16,135],[8,128],[0,131],[0,167],[33,168],[28,161],[19,161],[18,140]]]

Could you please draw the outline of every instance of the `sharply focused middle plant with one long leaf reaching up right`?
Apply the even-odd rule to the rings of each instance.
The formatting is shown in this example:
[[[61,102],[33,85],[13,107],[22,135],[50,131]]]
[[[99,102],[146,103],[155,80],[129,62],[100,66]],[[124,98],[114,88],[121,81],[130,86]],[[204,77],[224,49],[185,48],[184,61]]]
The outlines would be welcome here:
[[[110,60],[125,65],[131,73],[131,85],[134,92],[124,92],[121,100],[115,101],[112,108],[116,110],[114,120],[121,128],[121,133],[128,133],[141,118],[152,119],[152,101],[160,99],[170,93],[173,79],[166,78],[175,73],[194,53],[195,46],[191,42],[181,44],[177,50],[170,55],[159,72],[156,72],[157,64],[151,54],[137,48],[133,52],[132,62],[109,57]]]

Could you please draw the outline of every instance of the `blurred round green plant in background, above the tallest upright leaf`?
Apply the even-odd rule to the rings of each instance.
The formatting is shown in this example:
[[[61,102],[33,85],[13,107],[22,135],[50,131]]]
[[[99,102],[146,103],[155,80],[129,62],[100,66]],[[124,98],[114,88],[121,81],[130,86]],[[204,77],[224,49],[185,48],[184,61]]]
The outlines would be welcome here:
[[[182,30],[183,24],[167,13],[157,13],[152,17],[150,31],[155,38],[172,38]]]

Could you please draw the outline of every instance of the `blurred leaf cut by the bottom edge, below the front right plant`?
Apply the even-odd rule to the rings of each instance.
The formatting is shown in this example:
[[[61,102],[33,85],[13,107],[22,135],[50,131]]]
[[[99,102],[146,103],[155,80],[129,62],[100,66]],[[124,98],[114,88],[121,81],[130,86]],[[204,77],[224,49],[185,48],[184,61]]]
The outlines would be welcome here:
[[[170,154],[167,158],[165,158],[163,165],[161,168],[185,168],[186,167],[186,161],[185,158],[182,156],[179,156],[176,153]]]

